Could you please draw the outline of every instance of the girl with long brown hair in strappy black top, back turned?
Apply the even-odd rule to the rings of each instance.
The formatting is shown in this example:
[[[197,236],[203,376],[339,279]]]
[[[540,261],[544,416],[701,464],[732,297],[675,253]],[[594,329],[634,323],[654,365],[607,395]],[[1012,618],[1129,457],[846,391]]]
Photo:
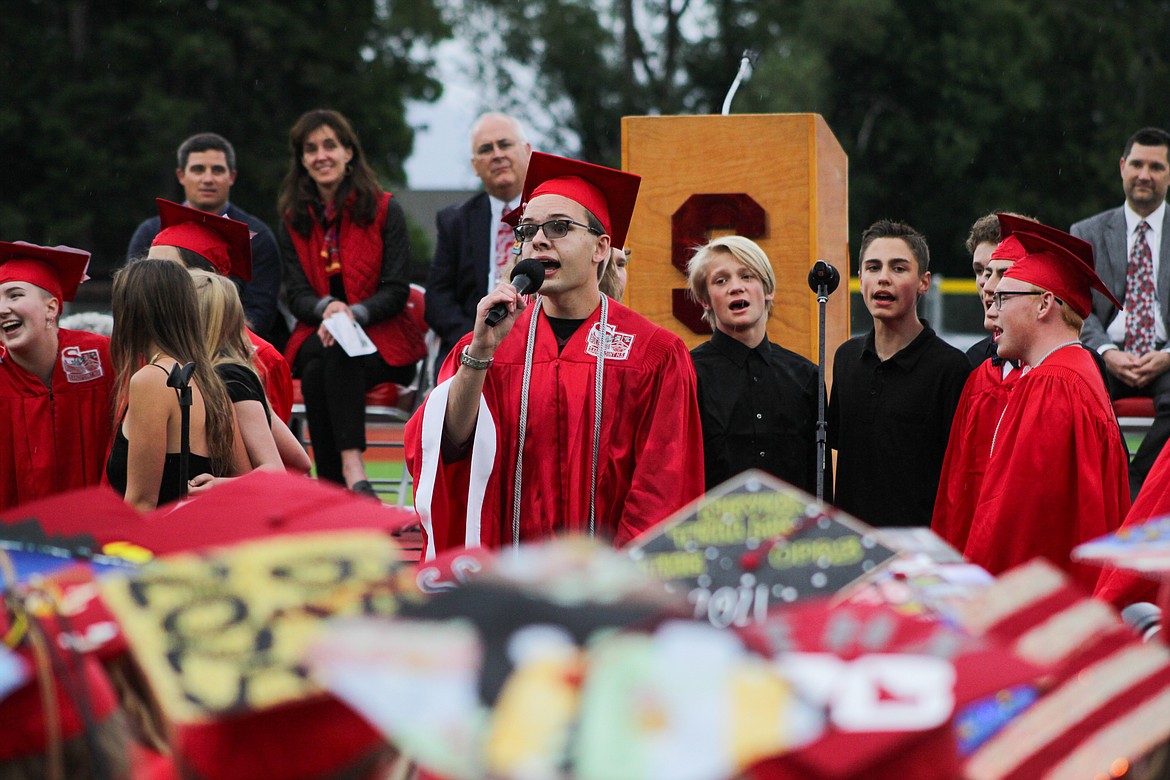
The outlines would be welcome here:
[[[133,261],[113,278],[110,352],[121,423],[105,464],[110,485],[139,510],[179,498],[181,416],[166,380],[177,364],[195,364],[191,379],[187,476],[248,470],[232,401],[199,337],[195,287],[178,263]]]

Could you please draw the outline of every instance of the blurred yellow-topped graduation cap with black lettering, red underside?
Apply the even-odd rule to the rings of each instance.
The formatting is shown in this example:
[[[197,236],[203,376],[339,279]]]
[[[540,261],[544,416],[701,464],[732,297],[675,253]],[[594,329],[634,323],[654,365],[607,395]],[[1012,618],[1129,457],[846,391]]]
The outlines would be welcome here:
[[[312,778],[383,750],[301,658],[330,617],[393,614],[399,584],[415,593],[400,552],[373,531],[281,536],[103,578],[178,761],[206,778]]]

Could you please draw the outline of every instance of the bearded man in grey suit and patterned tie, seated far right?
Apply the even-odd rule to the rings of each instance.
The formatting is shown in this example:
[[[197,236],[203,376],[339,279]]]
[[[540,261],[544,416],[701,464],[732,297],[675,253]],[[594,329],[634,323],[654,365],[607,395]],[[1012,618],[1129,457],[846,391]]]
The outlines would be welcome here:
[[[1097,276],[1121,301],[1119,311],[1093,294],[1081,340],[1104,358],[1109,394],[1154,399],[1156,416],[1129,467],[1136,496],[1170,440],[1170,134],[1158,127],[1134,133],[1121,158],[1126,205],[1082,220],[1072,234],[1093,244]]]

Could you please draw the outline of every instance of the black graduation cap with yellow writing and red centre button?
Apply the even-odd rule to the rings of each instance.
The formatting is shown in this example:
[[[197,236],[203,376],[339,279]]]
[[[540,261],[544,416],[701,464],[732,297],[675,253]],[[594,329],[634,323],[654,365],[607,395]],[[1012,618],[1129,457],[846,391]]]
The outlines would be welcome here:
[[[771,606],[838,593],[895,552],[873,529],[758,470],[634,539],[629,555],[689,594],[695,616],[743,626]]]

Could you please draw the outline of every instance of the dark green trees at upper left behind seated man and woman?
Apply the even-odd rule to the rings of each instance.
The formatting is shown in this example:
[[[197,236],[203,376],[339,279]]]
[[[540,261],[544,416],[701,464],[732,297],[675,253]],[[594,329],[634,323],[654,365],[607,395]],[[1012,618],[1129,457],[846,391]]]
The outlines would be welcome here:
[[[431,50],[450,29],[428,0],[40,0],[9,4],[0,57],[0,236],[119,264],[156,196],[178,198],[174,150],[220,132],[233,200],[275,223],[288,129],[345,113],[378,173],[404,180],[407,99],[435,99]]]

